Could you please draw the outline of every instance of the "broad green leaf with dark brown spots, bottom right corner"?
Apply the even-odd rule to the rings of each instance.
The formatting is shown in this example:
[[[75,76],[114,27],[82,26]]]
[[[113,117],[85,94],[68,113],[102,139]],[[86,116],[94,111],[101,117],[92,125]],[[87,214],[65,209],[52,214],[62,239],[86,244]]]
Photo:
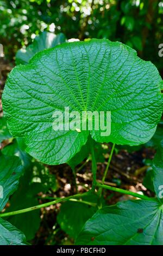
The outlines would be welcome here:
[[[163,245],[163,206],[135,200],[98,210],[76,245]]]

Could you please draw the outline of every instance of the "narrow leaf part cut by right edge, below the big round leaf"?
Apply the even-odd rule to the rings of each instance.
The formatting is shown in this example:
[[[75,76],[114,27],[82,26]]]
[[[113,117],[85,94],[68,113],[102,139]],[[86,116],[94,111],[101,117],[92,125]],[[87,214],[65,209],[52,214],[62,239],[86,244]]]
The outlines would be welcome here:
[[[154,190],[158,199],[163,202],[163,140],[153,160]]]

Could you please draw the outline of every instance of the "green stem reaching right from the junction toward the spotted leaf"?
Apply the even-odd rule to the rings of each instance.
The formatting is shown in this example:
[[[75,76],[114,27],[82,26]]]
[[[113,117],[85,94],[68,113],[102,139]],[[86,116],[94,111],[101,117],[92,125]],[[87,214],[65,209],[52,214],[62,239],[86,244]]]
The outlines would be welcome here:
[[[101,188],[105,188],[106,190],[119,192],[119,193],[122,193],[122,194],[129,194],[130,196],[137,197],[137,198],[144,199],[144,200],[148,200],[148,201],[155,201],[156,200],[155,198],[146,197],[146,196],[143,196],[142,194],[138,194],[138,193],[131,192],[131,191],[128,191],[128,190],[123,190],[122,188],[111,187],[111,186],[103,185],[103,184],[99,184],[99,183],[96,184],[96,186],[101,187]]]

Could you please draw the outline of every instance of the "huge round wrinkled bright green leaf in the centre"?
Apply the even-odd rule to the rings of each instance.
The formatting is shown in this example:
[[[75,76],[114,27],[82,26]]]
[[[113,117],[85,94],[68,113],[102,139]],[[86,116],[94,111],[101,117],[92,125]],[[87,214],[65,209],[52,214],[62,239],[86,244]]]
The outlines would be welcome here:
[[[92,130],[97,142],[139,145],[153,136],[162,113],[162,80],[150,62],[120,42],[93,39],[37,53],[14,68],[3,93],[3,109],[14,137],[48,164],[68,162],[89,131],[54,131],[54,111],[111,111],[111,134]]]

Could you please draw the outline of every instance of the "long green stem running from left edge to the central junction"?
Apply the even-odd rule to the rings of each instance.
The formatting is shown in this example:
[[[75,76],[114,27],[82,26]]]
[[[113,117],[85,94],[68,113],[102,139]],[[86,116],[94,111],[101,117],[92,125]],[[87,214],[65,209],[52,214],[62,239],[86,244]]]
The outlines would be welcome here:
[[[0,214],[0,217],[7,217],[7,216],[12,216],[12,215],[17,215],[17,214],[23,214],[24,212],[34,211],[34,210],[41,209],[41,208],[44,208],[44,207],[47,207],[47,206],[50,206],[53,204],[60,203],[62,201],[70,200],[72,198],[80,198],[80,197],[86,196],[88,193],[89,192],[85,192],[83,194],[74,194],[73,196],[70,196],[70,197],[60,198],[60,199],[54,200],[52,202],[48,202],[45,204],[39,204],[39,205],[29,207],[26,209],[22,209],[22,210],[18,210],[18,211],[11,211],[11,212],[4,212],[4,214]]]

